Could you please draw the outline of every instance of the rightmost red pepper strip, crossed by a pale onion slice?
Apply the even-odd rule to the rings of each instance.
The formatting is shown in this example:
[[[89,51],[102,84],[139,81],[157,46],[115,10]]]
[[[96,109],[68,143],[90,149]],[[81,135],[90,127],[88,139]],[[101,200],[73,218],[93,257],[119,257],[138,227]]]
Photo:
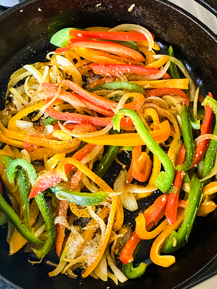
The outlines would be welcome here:
[[[208,95],[213,98],[213,95],[211,92],[209,92]],[[209,105],[205,105],[204,108],[205,108],[205,117],[200,128],[200,135],[212,133],[213,110]],[[196,164],[198,164],[198,162],[200,162],[200,160],[202,160],[203,156],[205,155],[207,151],[209,143],[210,143],[210,140],[205,139],[198,144],[198,146],[195,149],[194,161],[192,163],[191,168],[193,168]]]

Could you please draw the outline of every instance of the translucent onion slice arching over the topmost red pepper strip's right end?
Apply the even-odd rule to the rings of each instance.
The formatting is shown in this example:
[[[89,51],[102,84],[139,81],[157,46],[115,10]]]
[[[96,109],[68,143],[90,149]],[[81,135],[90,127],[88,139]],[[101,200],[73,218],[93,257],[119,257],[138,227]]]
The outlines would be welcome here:
[[[146,28],[136,25],[136,24],[120,24],[110,29],[109,31],[136,31],[143,35],[145,35],[147,41],[149,42],[149,51],[154,47],[154,39]]]

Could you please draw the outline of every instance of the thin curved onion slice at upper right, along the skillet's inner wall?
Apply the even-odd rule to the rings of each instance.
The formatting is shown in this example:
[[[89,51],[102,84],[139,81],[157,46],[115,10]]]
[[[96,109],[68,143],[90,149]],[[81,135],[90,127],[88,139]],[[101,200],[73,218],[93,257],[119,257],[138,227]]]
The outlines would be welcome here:
[[[169,56],[169,55],[158,54],[158,55],[153,55],[153,57],[155,59],[160,59],[161,57],[167,57],[168,60],[175,63],[180,68],[180,70],[185,75],[185,77],[189,79],[189,86],[190,86],[189,87],[189,90],[190,90],[190,99],[189,100],[194,101],[196,87],[195,87],[195,84],[194,84],[192,78],[190,77],[190,74],[188,73],[187,69],[185,68],[185,66],[178,59],[176,59],[172,56]]]

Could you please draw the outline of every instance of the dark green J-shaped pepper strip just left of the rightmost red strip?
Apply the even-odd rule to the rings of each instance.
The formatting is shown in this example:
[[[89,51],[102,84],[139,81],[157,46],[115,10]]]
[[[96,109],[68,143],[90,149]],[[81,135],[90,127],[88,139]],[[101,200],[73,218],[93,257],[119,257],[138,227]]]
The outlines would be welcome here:
[[[190,169],[194,161],[194,142],[191,130],[190,116],[186,104],[183,104],[180,111],[182,120],[182,135],[185,144],[185,162],[182,165],[177,165],[176,170],[186,171]]]

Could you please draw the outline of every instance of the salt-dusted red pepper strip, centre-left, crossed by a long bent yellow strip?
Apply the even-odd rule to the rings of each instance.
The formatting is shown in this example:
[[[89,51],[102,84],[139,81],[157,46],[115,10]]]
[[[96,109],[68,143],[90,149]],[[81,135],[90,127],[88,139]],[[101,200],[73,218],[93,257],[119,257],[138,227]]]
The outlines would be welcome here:
[[[81,161],[92,149],[95,147],[94,144],[86,144],[81,150],[76,152],[72,157],[76,160]],[[70,173],[74,168],[74,165],[66,166],[66,174]],[[34,183],[32,190],[29,195],[29,199],[34,198],[37,194],[45,191],[46,189],[58,184],[61,181],[61,177],[56,173],[56,168],[39,175],[36,182]]]

